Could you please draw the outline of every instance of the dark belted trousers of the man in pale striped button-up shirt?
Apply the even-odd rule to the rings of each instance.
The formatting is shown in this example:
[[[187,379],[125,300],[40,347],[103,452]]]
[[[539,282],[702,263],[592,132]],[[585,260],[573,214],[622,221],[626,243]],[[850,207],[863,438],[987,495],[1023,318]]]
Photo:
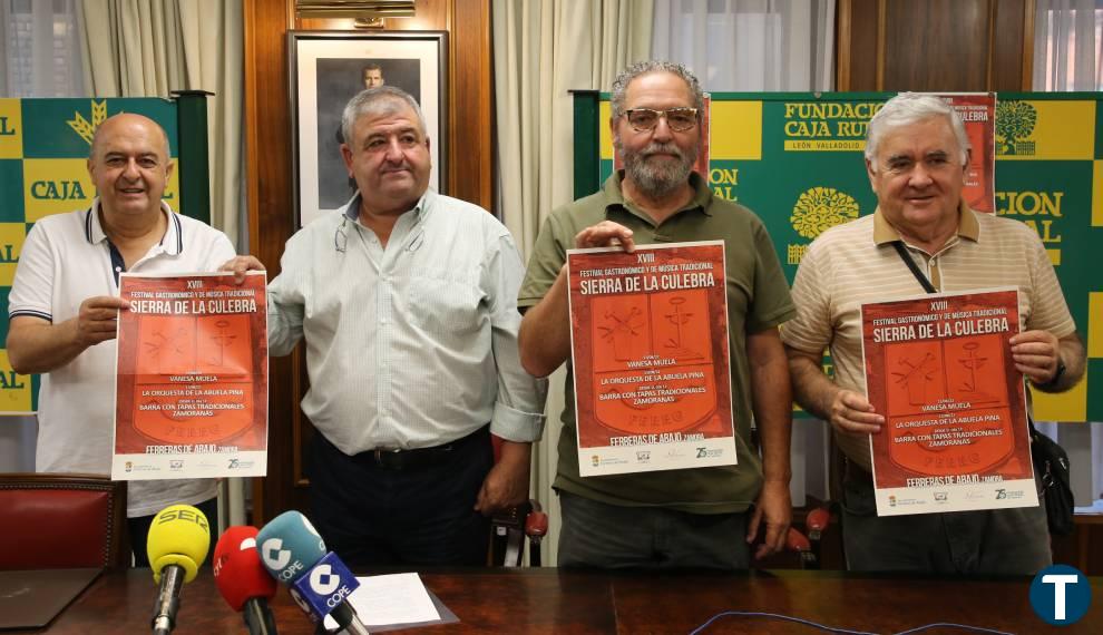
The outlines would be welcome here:
[[[475,502],[494,463],[489,427],[383,459],[314,436],[311,520],[326,548],[350,566],[485,564],[490,520]]]

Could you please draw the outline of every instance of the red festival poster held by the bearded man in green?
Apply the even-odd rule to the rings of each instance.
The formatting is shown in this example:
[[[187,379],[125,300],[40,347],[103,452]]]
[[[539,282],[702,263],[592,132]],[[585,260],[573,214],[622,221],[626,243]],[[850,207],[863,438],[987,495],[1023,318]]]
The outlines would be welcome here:
[[[582,476],[735,465],[723,242],[567,267]]]

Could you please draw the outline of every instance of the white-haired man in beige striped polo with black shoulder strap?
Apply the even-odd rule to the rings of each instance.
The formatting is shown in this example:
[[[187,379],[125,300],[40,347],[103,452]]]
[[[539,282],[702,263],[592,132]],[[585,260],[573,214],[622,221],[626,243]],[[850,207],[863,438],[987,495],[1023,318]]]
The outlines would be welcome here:
[[[969,143],[939,98],[905,92],[870,120],[866,169],[877,212],[824,232],[793,283],[797,319],[782,330],[797,401],[831,423],[846,455],[843,544],[852,570],[1029,574],[1051,564],[1041,507],[878,517],[869,434],[885,418],[863,394],[859,306],[924,293],[897,253],[941,292],[1019,290],[1015,367],[1034,390],[1062,392],[1084,374],[1084,346],[1041,240],[1023,223],[962,199]],[[836,378],[823,374],[830,346]]]

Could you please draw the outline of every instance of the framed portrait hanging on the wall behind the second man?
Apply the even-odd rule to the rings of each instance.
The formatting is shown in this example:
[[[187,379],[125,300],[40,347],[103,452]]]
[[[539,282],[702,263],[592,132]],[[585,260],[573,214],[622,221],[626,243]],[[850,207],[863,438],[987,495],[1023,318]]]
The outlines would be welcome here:
[[[445,31],[289,31],[296,226],[343,208],[357,192],[341,157],[341,114],[365,88],[409,92],[429,137],[429,186],[443,193],[448,42]]]

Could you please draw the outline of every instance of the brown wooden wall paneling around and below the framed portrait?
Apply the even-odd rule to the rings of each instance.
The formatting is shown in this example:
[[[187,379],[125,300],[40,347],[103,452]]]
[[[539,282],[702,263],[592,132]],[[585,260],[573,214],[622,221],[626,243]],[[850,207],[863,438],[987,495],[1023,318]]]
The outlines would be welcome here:
[[[452,196],[490,209],[494,146],[489,0],[417,0],[414,18],[391,18],[388,30],[448,31],[448,152],[442,182]],[[280,270],[294,233],[289,30],[355,29],[351,19],[302,19],[294,0],[245,2],[245,139],[250,250],[269,277]],[[303,346],[269,367],[269,476],[253,479],[253,517],[261,525],[287,509],[306,510],[303,450],[314,429],[300,402],[308,389]]]

